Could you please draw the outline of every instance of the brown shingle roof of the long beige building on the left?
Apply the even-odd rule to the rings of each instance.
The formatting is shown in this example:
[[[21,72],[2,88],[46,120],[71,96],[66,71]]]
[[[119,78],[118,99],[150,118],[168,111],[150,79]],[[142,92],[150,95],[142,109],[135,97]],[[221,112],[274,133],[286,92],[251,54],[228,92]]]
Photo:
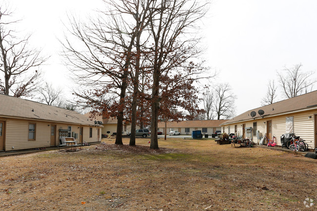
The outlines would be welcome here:
[[[93,121],[87,120],[86,116],[78,112],[2,94],[0,94],[0,116],[94,125]]]

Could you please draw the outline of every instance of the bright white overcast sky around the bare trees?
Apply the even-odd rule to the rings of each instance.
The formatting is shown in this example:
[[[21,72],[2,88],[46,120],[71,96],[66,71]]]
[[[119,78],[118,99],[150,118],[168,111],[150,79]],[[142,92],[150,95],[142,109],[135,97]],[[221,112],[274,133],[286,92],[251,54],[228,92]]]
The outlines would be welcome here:
[[[66,86],[68,70],[59,56],[67,13],[84,19],[101,0],[10,0],[31,44],[51,55],[45,79]],[[284,66],[317,70],[317,0],[213,0],[203,24],[207,65],[219,71],[237,96],[237,115],[261,106],[269,79]],[[315,74],[315,77],[317,75]],[[65,87],[65,90],[69,88]],[[70,91],[69,91],[70,92]],[[278,92],[278,99],[283,99]]]

